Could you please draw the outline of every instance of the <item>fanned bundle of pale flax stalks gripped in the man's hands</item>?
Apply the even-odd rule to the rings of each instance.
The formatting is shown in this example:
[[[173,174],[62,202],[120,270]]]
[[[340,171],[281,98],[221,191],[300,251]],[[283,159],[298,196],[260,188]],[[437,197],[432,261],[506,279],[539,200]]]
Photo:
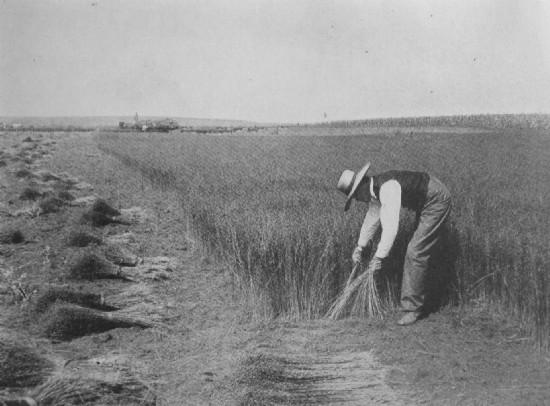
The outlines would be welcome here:
[[[355,279],[355,274],[362,265],[357,263],[348,278],[344,291],[336,298],[327,312],[327,317],[337,320],[349,312],[358,317],[382,318],[382,302],[376,286],[376,275],[367,267]]]

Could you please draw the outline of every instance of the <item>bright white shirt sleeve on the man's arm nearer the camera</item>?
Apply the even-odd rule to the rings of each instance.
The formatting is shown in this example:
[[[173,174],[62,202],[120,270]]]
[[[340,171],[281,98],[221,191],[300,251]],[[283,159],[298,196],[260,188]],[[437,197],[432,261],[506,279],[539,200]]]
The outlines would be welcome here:
[[[389,180],[380,187],[380,223],[382,235],[375,255],[386,258],[393,246],[399,229],[401,210],[401,186],[396,180]]]

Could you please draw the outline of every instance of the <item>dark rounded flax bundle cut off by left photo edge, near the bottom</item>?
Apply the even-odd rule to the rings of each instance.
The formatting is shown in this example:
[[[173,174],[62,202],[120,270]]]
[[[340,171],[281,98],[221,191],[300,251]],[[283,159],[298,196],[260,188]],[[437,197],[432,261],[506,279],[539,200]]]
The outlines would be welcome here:
[[[2,338],[3,340],[3,338]],[[0,387],[26,388],[44,382],[54,365],[32,348],[0,341]]]

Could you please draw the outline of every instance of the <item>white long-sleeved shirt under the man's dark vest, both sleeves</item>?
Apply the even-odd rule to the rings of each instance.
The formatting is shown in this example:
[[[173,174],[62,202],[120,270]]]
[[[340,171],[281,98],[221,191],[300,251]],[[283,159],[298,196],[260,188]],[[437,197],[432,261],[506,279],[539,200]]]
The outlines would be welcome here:
[[[359,233],[357,245],[366,247],[369,241],[382,226],[382,236],[376,249],[379,258],[386,258],[393,246],[399,229],[399,212],[401,210],[401,185],[390,179],[380,186],[378,198],[374,195],[373,180],[370,178],[369,210]]]

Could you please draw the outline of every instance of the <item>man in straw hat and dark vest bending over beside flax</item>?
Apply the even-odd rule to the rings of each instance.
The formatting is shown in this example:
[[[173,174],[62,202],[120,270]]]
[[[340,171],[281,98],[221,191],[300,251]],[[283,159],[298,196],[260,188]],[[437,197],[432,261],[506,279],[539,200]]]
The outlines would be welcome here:
[[[338,181],[338,189],[347,195],[345,211],[352,199],[369,205],[352,260],[361,262],[363,249],[381,226],[380,242],[369,263],[369,271],[379,271],[397,236],[401,207],[416,212],[417,226],[407,246],[401,285],[404,315],[397,322],[405,326],[425,312],[428,262],[451,211],[451,197],[445,185],[426,172],[392,170],[371,175],[369,167],[367,163],[357,173],[345,170]]]

